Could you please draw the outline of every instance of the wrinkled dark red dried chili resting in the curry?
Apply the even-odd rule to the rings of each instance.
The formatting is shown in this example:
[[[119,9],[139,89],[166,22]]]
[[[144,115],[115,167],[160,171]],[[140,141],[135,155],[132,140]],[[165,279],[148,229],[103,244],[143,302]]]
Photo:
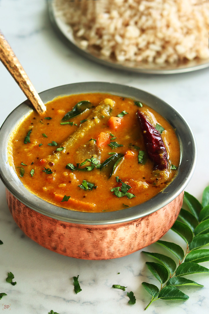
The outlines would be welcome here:
[[[141,127],[147,154],[154,161],[154,169],[167,170],[168,154],[161,134],[139,110],[137,111],[137,119]]]

